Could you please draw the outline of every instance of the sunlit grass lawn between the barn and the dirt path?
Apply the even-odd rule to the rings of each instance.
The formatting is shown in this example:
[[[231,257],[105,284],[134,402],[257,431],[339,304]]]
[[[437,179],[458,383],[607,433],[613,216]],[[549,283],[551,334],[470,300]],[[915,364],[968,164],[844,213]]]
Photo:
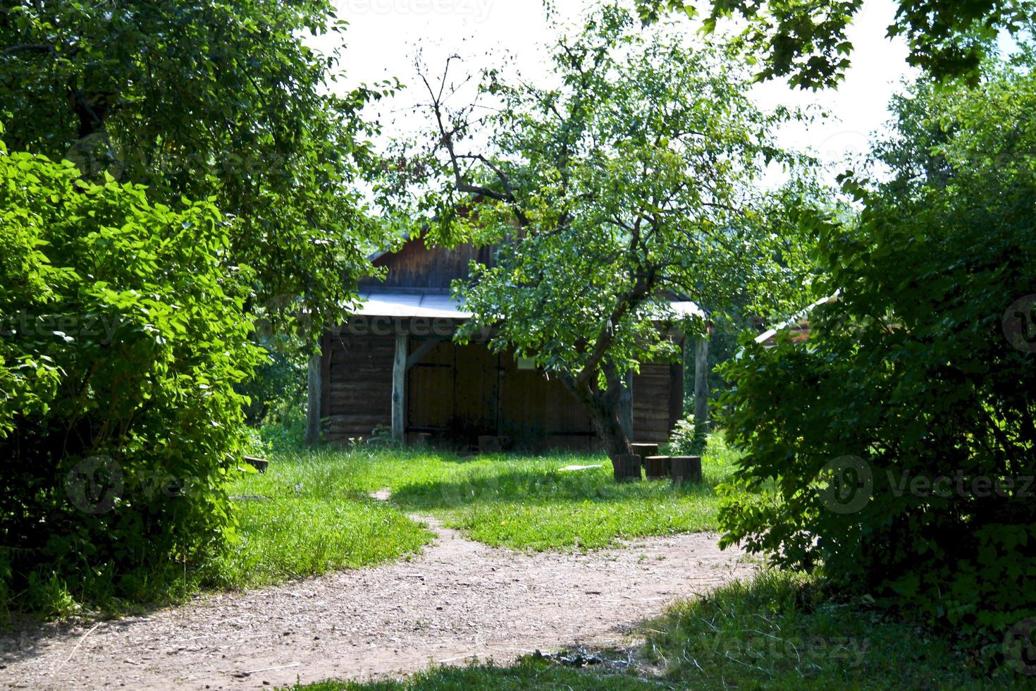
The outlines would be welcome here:
[[[231,492],[240,543],[206,581],[254,586],[412,554],[432,539],[406,514],[431,515],[472,540],[514,549],[596,549],[616,540],[715,529],[713,487],[737,456],[715,438],[704,483],[616,484],[601,456],[472,456],[358,447],[274,456]],[[566,465],[602,467],[559,472]],[[388,488],[380,502],[369,493]]]

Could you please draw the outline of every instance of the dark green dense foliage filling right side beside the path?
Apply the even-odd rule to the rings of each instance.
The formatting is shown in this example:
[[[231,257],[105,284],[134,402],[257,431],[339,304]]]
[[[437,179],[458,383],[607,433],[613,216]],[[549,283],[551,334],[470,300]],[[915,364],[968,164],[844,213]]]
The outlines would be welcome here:
[[[895,103],[857,227],[818,228],[827,289],[808,347],[726,369],[738,471],[726,543],[823,566],[1000,651],[1036,614],[1036,76]],[[881,180],[881,181],[880,181]],[[1028,635],[1023,627],[1023,633]],[[1024,637],[1024,636],[1023,636]]]

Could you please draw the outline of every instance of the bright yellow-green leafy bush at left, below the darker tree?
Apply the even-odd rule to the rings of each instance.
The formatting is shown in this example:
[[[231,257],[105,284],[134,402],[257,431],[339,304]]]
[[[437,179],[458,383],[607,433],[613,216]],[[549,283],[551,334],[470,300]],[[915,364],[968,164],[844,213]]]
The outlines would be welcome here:
[[[231,534],[249,271],[211,203],[2,144],[0,226],[0,594],[147,597]]]

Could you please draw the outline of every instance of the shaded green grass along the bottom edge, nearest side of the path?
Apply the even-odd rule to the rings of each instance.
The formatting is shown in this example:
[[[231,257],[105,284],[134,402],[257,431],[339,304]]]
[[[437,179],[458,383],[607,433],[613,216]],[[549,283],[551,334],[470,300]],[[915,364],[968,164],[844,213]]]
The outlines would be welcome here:
[[[402,682],[326,682],[295,689],[988,689],[1032,688],[1009,670],[969,666],[950,643],[865,603],[832,601],[805,576],[762,572],[678,604],[644,626],[636,671],[611,674],[523,659],[511,666],[433,667]],[[604,655],[607,659],[607,654]],[[635,668],[634,668],[635,669]],[[644,670],[653,669],[648,674]]]

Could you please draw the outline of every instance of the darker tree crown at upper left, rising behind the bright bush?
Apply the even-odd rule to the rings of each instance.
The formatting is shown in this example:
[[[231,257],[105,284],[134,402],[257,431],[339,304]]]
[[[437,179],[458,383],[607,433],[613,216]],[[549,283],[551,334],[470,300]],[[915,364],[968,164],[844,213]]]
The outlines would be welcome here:
[[[313,343],[382,242],[353,182],[387,91],[332,93],[341,32],[325,0],[0,2],[0,122],[15,150],[70,159],[154,201],[209,199],[233,221],[228,265],[252,266],[249,312]]]

